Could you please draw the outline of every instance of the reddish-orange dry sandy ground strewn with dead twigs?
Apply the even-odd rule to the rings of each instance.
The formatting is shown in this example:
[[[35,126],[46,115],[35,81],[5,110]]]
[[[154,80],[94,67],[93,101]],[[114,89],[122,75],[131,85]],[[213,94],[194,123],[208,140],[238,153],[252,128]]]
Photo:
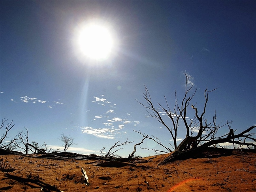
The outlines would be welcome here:
[[[9,162],[13,170],[9,169],[9,175],[0,172],[0,192],[256,191],[255,152],[234,150],[230,156],[190,158],[163,166],[157,164],[166,154],[127,165],[39,156],[1,155],[0,159]],[[83,183],[81,167],[87,172],[88,186]]]

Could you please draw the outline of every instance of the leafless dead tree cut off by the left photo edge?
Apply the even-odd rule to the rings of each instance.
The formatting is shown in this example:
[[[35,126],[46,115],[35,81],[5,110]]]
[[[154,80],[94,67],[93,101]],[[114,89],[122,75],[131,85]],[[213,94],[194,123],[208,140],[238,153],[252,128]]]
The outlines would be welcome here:
[[[0,126],[0,149],[7,149],[12,151],[15,148],[15,142],[17,141],[17,137],[11,138],[9,142],[5,140],[8,138],[8,132],[13,128],[13,121],[11,123],[6,122],[8,119],[2,119],[2,123]]]

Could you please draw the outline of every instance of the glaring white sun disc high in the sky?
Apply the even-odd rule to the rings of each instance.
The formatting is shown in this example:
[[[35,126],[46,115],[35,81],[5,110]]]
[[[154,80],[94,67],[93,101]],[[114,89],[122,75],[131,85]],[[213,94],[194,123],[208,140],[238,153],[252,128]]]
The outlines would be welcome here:
[[[105,60],[113,48],[113,38],[107,28],[88,24],[81,29],[78,38],[79,48],[88,58]]]

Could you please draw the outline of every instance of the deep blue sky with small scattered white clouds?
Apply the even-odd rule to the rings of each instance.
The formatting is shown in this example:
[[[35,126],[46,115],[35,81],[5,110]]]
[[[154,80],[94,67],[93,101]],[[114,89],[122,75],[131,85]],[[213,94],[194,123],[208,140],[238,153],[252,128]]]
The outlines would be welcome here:
[[[92,19],[109,26],[117,42],[106,60],[86,58],[75,43],[79,26]],[[255,34],[252,0],[2,0],[0,117],[13,120],[13,135],[27,127],[30,142],[61,147],[59,136],[70,135],[77,145],[68,151],[83,154],[126,139],[139,143],[133,130],[169,145],[168,130],[136,99],[144,102],[145,84],[155,104],[164,104],[165,95],[173,106],[187,72],[199,111],[205,88],[218,88],[209,94],[206,117],[216,110],[218,122],[232,120],[242,131],[256,124]],[[128,156],[133,145],[118,154]],[[150,140],[141,147],[162,149]]]

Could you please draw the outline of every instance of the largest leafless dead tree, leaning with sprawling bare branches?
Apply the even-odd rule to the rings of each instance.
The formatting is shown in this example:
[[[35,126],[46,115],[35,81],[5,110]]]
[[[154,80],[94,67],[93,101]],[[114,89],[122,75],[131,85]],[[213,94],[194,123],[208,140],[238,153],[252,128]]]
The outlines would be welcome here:
[[[247,130],[241,132],[240,134],[235,135],[234,132],[236,130],[233,130],[231,128],[232,122],[226,122],[226,123],[217,123],[216,122],[216,112],[213,117],[213,120],[211,122],[208,122],[207,118],[205,118],[206,113],[206,107],[207,102],[209,100],[209,92],[214,91],[208,90],[207,88],[204,91],[204,98],[205,102],[203,105],[202,112],[199,113],[196,105],[193,105],[192,98],[194,98],[196,94],[196,89],[193,88],[194,84],[190,83],[191,76],[188,73],[184,73],[186,77],[186,84],[185,84],[185,93],[184,97],[181,100],[181,102],[178,102],[176,90],[175,90],[175,103],[173,108],[169,107],[169,104],[167,102],[166,96],[164,96],[166,101],[166,107],[164,105],[161,105],[157,103],[157,107],[154,106],[154,104],[151,101],[151,96],[149,94],[149,91],[147,87],[145,86],[145,93],[144,99],[146,100],[146,104],[143,104],[139,102],[139,104],[143,105],[149,113],[150,117],[155,118],[160,122],[164,127],[168,130],[168,132],[171,135],[171,139],[173,140],[173,145],[171,145],[174,149],[174,152],[172,152],[168,158],[160,162],[160,164],[175,160],[179,155],[185,154],[187,151],[196,150],[202,147],[210,147],[219,143],[232,143],[233,145],[239,145],[239,146],[247,146],[248,148],[254,147],[256,149],[256,139],[254,137],[255,133],[252,133],[251,131],[256,126],[251,126]],[[138,101],[137,101],[138,102]],[[191,103],[191,105],[190,105]],[[191,106],[192,109],[194,109],[195,117],[194,119],[187,118],[187,111],[188,107]],[[165,119],[163,119],[162,111],[171,119],[171,124],[169,125]],[[186,130],[186,137],[181,141],[179,145],[177,145],[177,133],[178,128],[180,126],[180,122],[183,123],[183,127]],[[218,136],[217,132],[220,128],[223,128],[224,126],[228,126],[229,133],[225,134],[223,136]],[[152,139],[158,145],[161,145],[164,147],[168,152],[171,152],[171,150],[164,146],[160,139],[158,139],[155,136],[148,136],[147,134],[143,134],[140,131],[136,131],[137,133],[141,134],[143,137],[147,139]],[[162,151],[166,152],[166,151]],[[186,153],[188,154],[188,153]]]

